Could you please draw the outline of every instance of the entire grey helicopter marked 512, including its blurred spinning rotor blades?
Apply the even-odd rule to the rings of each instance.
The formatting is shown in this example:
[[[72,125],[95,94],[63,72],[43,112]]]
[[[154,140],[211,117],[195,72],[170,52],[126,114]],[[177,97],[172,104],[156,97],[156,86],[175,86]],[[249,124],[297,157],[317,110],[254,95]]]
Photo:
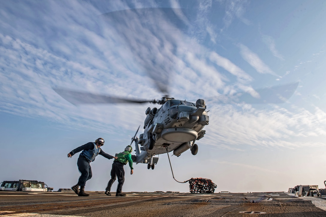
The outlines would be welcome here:
[[[169,31],[171,29],[186,32],[187,23],[189,22],[183,16],[179,16],[181,13],[187,14],[185,12],[185,10],[177,8],[138,8],[114,11],[101,16],[105,22],[111,24],[110,31],[112,29],[117,30],[116,35],[120,36],[143,70],[152,78],[155,87],[164,95],[161,99],[137,100],[53,88],[55,92],[74,105],[83,103],[152,103],[160,105],[159,108],[148,107],[146,109],[145,114],[147,116],[143,125],[144,132],[136,137],[138,128],[131,140],[131,144],[135,142],[136,146],[136,155],[133,155],[133,161],[147,164],[148,169],[154,169],[158,161],[158,157],[155,156],[158,154],[173,152],[175,156],[180,156],[190,149],[191,153],[196,155],[198,145],[195,142],[204,137],[205,130],[203,128],[209,123],[208,111],[206,111],[206,103],[203,99],[198,99],[196,103],[193,103],[174,99],[168,95],[168,83],[171,80],[170,72],[173,71],[175,63],[168,56],[162,58],[168,61],[162,61],[160,58],[156,59],[156,56],[165,56],[162,53],[159,53],[160,55],[156,53],[156,51],[160,50],[153,47],[156,43],[148,43],[152,40],[156,41],[156,37],[162,37],[160,41],[164,41],[163,38],[170,38]],[[168,22],[171,25],[168,25]],[[163,31],[157,31],[157,28],[161,28]],[[146,37],[142,35],[144,32],[148,33]],[[182,34],[180,37],[182,37]],[[173,38],[170,38],[170,40],[173,41]],[[148,51],[149,53],[141,53],[139,47],[144,48],[141,49],[142,51]],[[151,53],[151,51],[154,53]],[[288,99],[293,94],[297,85],[298,83],[294,83],[257,90],[260,97],[240,93],[235,96],[236,99],[233,101],[282,103],[285,101],[284,99]],[[214,97],[214,99],[216,98]]]

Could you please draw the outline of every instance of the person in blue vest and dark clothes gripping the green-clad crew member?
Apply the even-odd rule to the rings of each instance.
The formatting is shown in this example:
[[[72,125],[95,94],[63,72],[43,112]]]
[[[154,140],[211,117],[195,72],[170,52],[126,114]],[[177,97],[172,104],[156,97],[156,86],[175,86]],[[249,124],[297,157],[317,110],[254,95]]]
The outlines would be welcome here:
[[[81,172],[81,176],[79,177],[78,183],[71,187],[71,189],[78,196],[89,196],[89,194],[85,193],[84,188],[86,181],[92,178],[92,168],[90,163],[95,160],[95,157],[98,154],[108,159],[117,159],[117,157],[113,157],[110,154],[103,152],[103,150],[100,148],[102,145],[104,145],[104,139],[98,138],[95,140],[95,142],[88,142],[85,145],[82,145],[68,153],[68,157],[71,158],[71,156],[75,153],[82,151],[77,161],[77,166]]]

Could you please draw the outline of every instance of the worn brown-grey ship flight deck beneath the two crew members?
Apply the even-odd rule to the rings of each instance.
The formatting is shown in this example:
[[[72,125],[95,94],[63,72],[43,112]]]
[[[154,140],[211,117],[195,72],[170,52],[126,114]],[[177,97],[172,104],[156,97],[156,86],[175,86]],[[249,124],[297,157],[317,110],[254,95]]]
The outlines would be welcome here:
[[[326,216],[326,198],[284,192],[190,194],[0,192],[0,217],[11,216]]]

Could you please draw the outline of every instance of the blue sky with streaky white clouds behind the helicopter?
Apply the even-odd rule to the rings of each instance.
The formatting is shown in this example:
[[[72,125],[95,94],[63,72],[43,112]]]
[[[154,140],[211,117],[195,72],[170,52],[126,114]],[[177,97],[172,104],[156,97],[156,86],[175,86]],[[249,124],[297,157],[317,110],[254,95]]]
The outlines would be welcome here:
[[[211,179],[215,192],[325,188],[325,1],[1,5],[0,181],[71,188],[80,175],[78,154],[67,153],[98,137],[105,140],[104,152],[122,152],[146,109],[159,108],[73,105],[53,90],[61,88],[134,99],[204,99],[210,122],[196,142],[198,154],[170,153],[178,181]],[[298,87],[284,103],[270,103],[275,93],[259,95],[259,89],[293,83]],[[234,100],[244,93],[264,103]],[[154,170],[134,164],[130,175],[125,166],[123,191],[189,192],[188,183],[173,179],[167,154],[158,157]],[[112,162],[96,157],[85,190],[105,190]]]

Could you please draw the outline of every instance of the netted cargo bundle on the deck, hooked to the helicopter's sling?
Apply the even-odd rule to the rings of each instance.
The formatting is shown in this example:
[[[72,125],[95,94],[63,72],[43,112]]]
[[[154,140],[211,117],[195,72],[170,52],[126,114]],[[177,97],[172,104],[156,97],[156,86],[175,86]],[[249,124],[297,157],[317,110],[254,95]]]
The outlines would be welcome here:
[[[189,189],[191,194],[212,194],[215,191],[216,184],[210,179],[191,178],[189,180]]]

